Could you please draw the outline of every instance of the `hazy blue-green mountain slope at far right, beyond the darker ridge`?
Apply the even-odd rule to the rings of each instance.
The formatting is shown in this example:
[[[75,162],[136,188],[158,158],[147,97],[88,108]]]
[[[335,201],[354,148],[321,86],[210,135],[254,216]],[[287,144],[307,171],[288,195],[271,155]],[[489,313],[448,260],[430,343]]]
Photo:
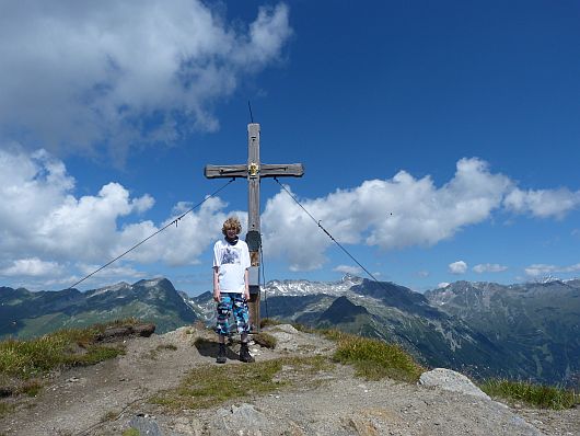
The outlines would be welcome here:
[[[517,362],[524,379],[575,383],[580,375],[580,283],[502,286],[457,282],[426,294]]]

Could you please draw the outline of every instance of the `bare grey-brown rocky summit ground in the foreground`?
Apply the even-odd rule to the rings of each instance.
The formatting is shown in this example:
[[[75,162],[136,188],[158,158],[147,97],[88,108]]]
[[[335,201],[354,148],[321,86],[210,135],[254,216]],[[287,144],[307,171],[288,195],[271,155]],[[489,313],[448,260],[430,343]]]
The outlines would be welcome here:
[[[265,331],[278,343],[274,349],[253,344],[258,363],[329,355],[335,346],[291,325]],[[196,343],[200,337],[207,340],[205,346]],[[50,377],[37,397],[22,399],[0,420],[0,435],[129,435],[130,428],[134,435],[175,436],[580,435],[579,409],[509,408],[473,387],[464,389],[464,380],[450,371],[444,377],[433,372],[427,385],[409,385],[367,381],[343,365],[315,375],[293,372],[290,388],[210,409],[169,410],[150,399],[177,387],[193,368],[217,367],[213,333],[188,326],[124,341],[127,353],[121,357]],[[252,365],[233,359],[235,347],[225,365]]]

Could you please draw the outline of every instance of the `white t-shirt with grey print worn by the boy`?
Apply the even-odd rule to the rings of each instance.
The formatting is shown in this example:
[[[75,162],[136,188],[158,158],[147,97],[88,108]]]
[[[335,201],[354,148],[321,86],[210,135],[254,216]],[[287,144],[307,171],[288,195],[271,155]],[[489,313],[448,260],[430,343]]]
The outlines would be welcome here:
[[[222,239],[213,245],[213,266],[219,267],[220,291],[243,292],[244,275],[250,265],[250,251],[244,241],[237,240],[232,245]]]

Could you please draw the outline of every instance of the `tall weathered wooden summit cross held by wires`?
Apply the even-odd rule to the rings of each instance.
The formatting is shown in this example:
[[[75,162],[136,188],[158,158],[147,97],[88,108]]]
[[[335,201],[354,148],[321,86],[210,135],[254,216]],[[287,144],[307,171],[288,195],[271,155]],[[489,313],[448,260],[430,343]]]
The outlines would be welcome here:
[[[259,331],[259,250],[262,233],[259,231],[259,181],[262,177],[301,177],[304,174],[302,163],[260,164],[259,162],[259,124],[247,125],[247,164],[206,165],[208,179],[247,179],[247,233],[246,243],[250,250],[250,325]]]

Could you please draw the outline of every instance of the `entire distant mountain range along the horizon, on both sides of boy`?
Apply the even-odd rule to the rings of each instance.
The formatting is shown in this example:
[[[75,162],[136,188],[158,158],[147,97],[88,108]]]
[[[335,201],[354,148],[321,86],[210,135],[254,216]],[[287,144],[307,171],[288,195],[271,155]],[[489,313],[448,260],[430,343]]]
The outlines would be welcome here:
[[[335,283],[271,280],[263,288],[260,312],[398,343],[427,366],[476,378],[579,381],[580,280],[456,282],[425,295],[350,275]],[[127,317],[154,322],[158,332],[196,320],[211,325],[214,302],[211,292],[192,298],[166,278],[85,292],[0,288],[0,337]]]

